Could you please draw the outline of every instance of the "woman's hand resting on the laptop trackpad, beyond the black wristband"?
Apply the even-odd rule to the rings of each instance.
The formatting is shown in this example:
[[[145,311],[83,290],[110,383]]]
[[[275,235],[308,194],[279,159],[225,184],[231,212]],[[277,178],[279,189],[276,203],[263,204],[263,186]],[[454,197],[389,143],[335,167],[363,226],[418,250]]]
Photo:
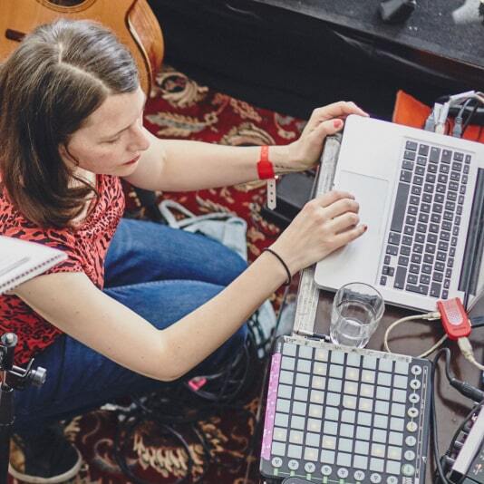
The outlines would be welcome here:
[[[295,274],[366,231],[358,225],[359,208],[350,193],[325,193],[305,204],[272,247]]]

